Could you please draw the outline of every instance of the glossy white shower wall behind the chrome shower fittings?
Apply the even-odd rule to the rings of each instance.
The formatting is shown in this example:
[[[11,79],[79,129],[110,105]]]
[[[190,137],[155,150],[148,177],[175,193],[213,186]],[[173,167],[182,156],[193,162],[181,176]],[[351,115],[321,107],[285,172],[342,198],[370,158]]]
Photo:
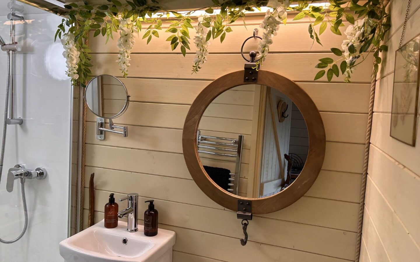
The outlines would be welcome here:
[[[0,0],[0,34],[9,42],[6,16],[9,0]],[[0,238],[15,239],[24,226],[20,181],[6,191],[8,169],[25,163],[44,166],[44,180],[26,180],[29,226],[13,244],[0,243],[1,262],[63,261],[58,242],[67,237],[71,133],[71,84],[64,74],[63,47],[54,42],[60,17],[24,5],[27,23],[16,25],[16,41],[23,45],[16,54],[15,117],[22,125],[8,125],[5,162],[0,183]],[[6,54],[0,51],[0,136],[6,86]]]

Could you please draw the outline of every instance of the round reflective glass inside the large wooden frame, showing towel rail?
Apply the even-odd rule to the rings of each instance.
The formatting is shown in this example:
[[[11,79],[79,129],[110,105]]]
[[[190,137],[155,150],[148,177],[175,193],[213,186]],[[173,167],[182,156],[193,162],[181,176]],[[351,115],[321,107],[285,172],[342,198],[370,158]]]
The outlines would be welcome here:
[[[249,84],[221,93],[207,107],[199,122],[197,150],[207,174],[224,190],[268,197],[299,176],[308,132],[289,97]]]

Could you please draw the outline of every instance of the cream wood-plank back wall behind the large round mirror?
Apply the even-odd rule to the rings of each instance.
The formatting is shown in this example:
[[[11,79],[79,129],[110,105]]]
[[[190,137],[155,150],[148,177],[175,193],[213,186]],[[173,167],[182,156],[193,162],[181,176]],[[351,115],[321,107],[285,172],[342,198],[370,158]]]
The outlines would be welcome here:
[[[236,213],[204,195],[186,169],[181,134],[189,105],[211,80],[244,68],[240,46],[262,18],[247,18],[248,31],[241,22],[233,25],[223,45],[212,41],[208,61],[194,75],[194,50],[185,58],[171,52],[166,33],[159,32],[149,45],[136,39],[129,78],[121,78],[131,103],[114,121],[129,126],[129,137],[107,133],[105,140],[96,140],[95,117],[87,117],[86,174],[95,172],[96,220],[103,218],[110,192],[117,198],[137,192],[141,201],[156,200],[160,228],[176,232],[174,262],[354,261],[372,59],[355,70],[353,83],[341,83],[342,78],[333,83],[313,81],[318,59],[332,55],[329,48],[341,46],[343,36],[325,31],[322,47],[309,38],[307,21],[289,21],[281,25],[270,47],[272,54],[262,66],[304,88],[324,121],[323,170],[304,197],[278,212],[255,215],[248,227],[248,244],[241,246]],[[115,40],[105,45],[103,38],[89,39],[94,75],[121,76]],[[146,208],[140,204],[139,223]]]

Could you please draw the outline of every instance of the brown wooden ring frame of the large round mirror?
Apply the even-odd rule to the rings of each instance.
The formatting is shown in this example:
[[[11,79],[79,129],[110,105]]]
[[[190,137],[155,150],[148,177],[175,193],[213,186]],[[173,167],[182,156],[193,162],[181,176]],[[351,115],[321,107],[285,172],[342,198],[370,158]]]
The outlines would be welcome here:
[[[197,130],[207,106],[224,91],[235,86],[256,84],[276,88],[288,96],[299,108],[306,122],[309,148],[307,160],[297,179],[283,191],[263,198],[233,195],[219,187],[207,175],[197,152]],[[244,82],[244,70],[228,73],[211,82],[192,103],[184,123],[182,148],[186,166],[197,186],[210,199],[230,210],[237,211],[238,200],[251,200],[253,214],[271,213],[296,202],[315,182],[325,156],[325,129],[321,115],[310,96],[296,83],[282,75],[258,70],[256,82]]]

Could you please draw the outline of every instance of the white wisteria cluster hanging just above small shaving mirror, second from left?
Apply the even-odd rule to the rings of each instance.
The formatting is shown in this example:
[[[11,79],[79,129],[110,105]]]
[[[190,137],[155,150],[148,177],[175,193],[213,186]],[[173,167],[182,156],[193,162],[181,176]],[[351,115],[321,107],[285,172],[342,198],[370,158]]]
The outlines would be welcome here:
[[[134,47],[134,29],[131,23],[131,18],[127,19],[119,19],[120,26],[119,34],[120,37],[117,41],[117,47],[118,47],[118,65],[120,67],[121,72],[123,73],[124,77],[127,77],[128,75],[128,67],[130,66],[129,61],[131,60],[130,54],[131,49]]]

